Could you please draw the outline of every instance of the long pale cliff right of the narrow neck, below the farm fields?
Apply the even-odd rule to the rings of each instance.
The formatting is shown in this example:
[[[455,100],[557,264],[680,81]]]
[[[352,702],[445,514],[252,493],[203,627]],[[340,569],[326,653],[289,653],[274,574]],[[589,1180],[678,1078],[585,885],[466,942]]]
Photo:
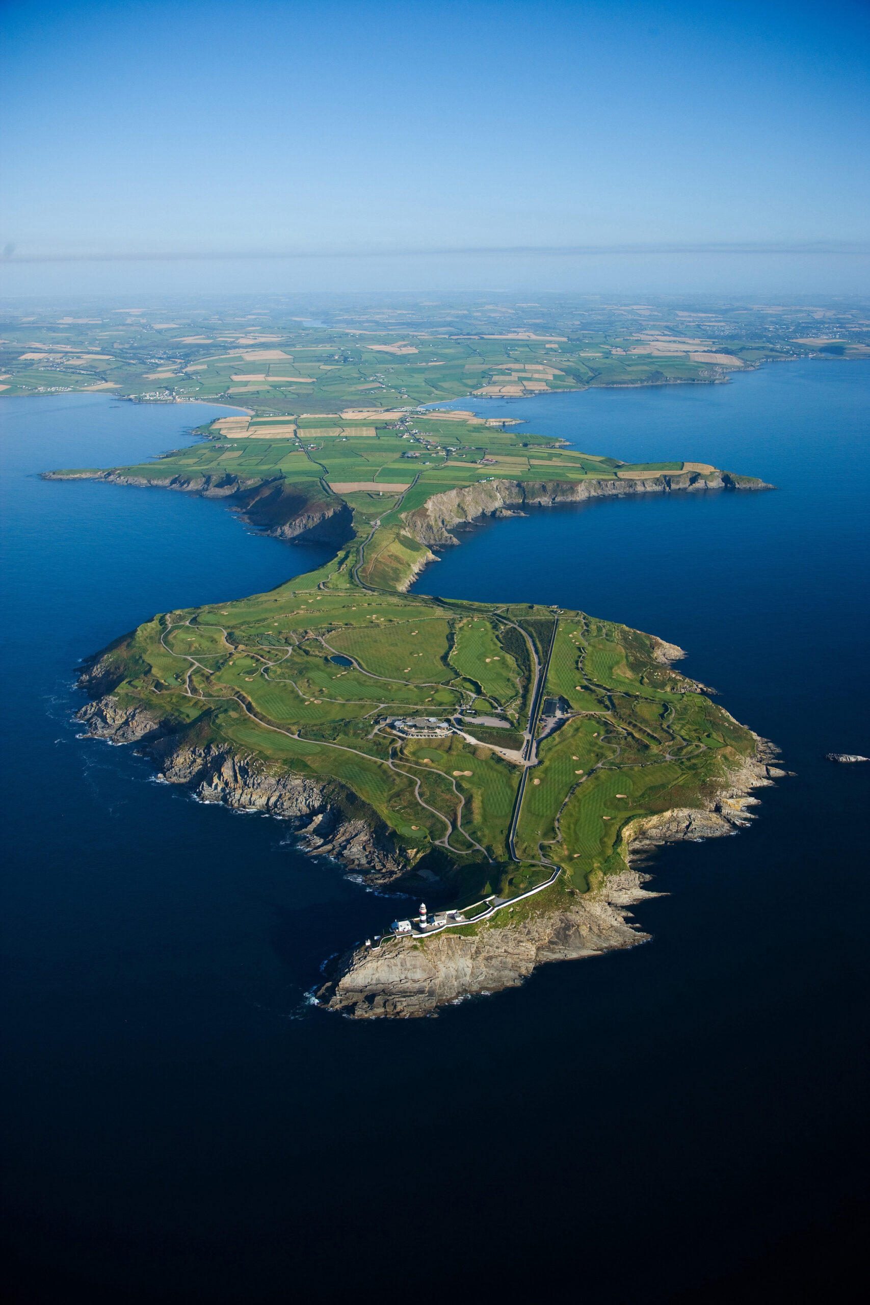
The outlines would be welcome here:
[[[770,489],[771,485],[751,476],[734,476],[716,471],[703,476],[695,471],[668,472],[647,480],[483,480],[464,489],[447,489],[433,495],[413,512],[404,513],[408,531],[429,548],[455,544],[449,534],[462,522],[476,517],[502,515],[523,506],[550,508],[558,502],[582,502],[586,499],[616,499],[638,493],[670,493],[687,489]]]

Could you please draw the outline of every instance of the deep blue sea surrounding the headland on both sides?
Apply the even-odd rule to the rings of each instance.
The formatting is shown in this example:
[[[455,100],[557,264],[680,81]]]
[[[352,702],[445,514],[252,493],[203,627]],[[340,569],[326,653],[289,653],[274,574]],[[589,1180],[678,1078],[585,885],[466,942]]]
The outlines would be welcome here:
[[[659,853],[652,944],[370,1024],[304,993],[390,903],[69,719],[82,656],[323,549],[219,502],[35,476],[177,445],[205,405],[0,403],[16,1298],[429,1298],[429,1272],[457,1298],[566,1276],[608,1302],[771,1300],[790,1272],[831,1291],[863,1210],[870,767],[822,754],[870,752],[869,398],[870,368],[800,363],[503,405],[590,452],[779,489],[541,509],[464,532],[417,589],[678,642],[797,778],[740,837]]]

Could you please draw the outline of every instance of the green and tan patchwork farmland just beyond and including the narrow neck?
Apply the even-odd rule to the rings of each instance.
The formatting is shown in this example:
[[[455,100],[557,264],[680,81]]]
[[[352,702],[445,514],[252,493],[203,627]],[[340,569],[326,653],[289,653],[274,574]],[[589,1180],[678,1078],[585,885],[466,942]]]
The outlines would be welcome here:
[[[408,530],[407,517],[433,495],[494,479],[535,487],[552,482],[618,484],[625,479],[644,479],[660,482],[664,488],[664,476],[691,475],[702,484],[704,480],[721,484],[721,472],[707,465],[693,463],[683,471],[683,463],[677,461],[621,463],[472,415],[357,416],[359,420],[342,418],[340,427],[335,425],[335,416],[300,418],[292,424],[266,418],[223,418],[197,432],[200,442],[149,462],[107,472],[73,468],[53,475],[108,475],[192,492],[235,492],[235,505],[263,529],[283,526],[307,505],[322,509],[330,501],[337,506],[338,500],[352,510],[355,523],[348,574],[378,590],[407,586],[430,559],[428,548]],[[280,437],[275,436],[278,429],[284,432]],[[742,482],[753,483],[747,478]],[[372,531],[372,539],[364,544]],[[479,659],[473,651],[468,652],[468,673],[481,686],[487,676],[496,676],[500,668],[505,671],[497,660],[502,654],[489,655],[492,660],[487,663],[485,654]],[[466,656],[462,647],[458,656]]]

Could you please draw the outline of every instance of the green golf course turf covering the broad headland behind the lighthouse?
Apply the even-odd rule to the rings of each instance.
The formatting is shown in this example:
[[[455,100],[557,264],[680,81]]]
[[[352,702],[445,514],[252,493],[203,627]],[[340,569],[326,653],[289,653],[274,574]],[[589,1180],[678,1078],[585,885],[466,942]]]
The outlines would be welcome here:
[[[107,660],[123,676],[123,701],[356,795],[410,865],[437,855],[442,882],[460,899],[481,876],[500,883],[544,873],[548,863],[583,887],[590,873],[623,864],[630,820],[699,804],[754,748],[749,731],[656,662],[650,637],[561,612],[545,696],[563,699],[569,714],[531,754],[522,864],[510,870],[522,765],[518,752],[509,760],[493,749],[523,745],[526,639],[543,658],[552,629],[553,612],[541,607],[363,590],[339,553],[269,594],[149,621]],[[472,744],[391,727],[397,715],[450,722],[459,709],[513,728],[479,726]]]

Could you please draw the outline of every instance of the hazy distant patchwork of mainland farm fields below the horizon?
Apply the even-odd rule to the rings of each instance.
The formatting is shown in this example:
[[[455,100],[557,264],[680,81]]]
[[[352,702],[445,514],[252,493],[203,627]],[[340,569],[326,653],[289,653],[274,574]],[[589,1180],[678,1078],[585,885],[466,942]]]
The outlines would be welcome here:
[[[252,305],[253,307],[253,305]],[[768,359],[869,355],[866,322],[844,309],[729,303],[693,313],[552,296],[468,296],[382,311],[318,307],[310,324],[273,304],[166,313],[97,308],[14,312],[0,338],[0,397],[104,392],[137,402],[203,399],[280,416],[344,419],[464,395],[522,398],[588,386],[710,384]],[[317,321],[320,318],[320,321]],[[284,432],[282,432],[284,433]],[[357,436],[364,431],[357,429]]]

